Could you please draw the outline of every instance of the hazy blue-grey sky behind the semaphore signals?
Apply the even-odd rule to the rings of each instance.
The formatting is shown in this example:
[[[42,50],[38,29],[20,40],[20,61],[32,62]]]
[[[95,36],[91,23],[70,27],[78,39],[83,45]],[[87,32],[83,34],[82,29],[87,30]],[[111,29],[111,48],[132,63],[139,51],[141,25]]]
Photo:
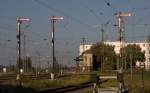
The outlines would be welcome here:
[[[0,64],[16,64],[16,18],[29,18],[21,25],[22,56],[31,56],[33,65],[52,62],[51,16],[63,16],[55,24],[56,58],[74,66],[82,38],[87,44],[101,41],[102,24],[105,40],[117,40],[118,12],[124,17],[127,41],[144,41],[150,35],[150,0],[0,0]],[[25,48],[24,48],[24,36]]]

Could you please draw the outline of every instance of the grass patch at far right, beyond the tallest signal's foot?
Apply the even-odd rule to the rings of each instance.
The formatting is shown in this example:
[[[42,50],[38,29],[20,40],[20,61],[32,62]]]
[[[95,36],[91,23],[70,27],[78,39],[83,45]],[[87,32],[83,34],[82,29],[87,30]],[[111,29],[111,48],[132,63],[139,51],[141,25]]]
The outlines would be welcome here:
[[[129,93],[143,93],[141,72],[133,73],[132,79],[130,74],[126,74],[124,79]],[[144,72],[144,88],[144,93],[150,93],[150,72]]]

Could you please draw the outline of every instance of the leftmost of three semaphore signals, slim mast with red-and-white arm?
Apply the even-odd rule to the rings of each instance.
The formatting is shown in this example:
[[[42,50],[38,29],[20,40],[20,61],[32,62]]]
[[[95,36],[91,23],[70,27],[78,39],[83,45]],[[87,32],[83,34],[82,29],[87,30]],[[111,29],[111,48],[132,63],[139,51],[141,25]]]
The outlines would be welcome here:
[[[20,78],[20,69],[21,69],[21,24],[24,21],[30,21],[28,18],[19,17],[16,19],[17,21],[17,42],[18,42],[18,61],[17,61],[17,80],[19,81],[19,85],[21,85]]]

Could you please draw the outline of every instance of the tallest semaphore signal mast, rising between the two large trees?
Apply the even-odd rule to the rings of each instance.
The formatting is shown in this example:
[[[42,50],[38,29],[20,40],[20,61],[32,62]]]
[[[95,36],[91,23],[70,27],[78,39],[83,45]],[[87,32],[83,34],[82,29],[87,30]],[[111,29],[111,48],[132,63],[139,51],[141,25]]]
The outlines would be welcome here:
[[[124,29],[124,20],[123,17],[126,16],[131,16],[131,13],[115,13],[115,15],[117,16],[117,27],[118,27],[118,32],[119,32],[119,41],[120,41],[120,50],[123,49],[123,47],[125,46],[125,29]],[[123,55],[123,53],[125,53],[125,50],[120,51],[120,64],[119,64],[119,68],[123,68],[124,64],[126,64],[126,62],[124,63],[124,57],[125,55]],[[125,67],[124,67],[125,68]]]

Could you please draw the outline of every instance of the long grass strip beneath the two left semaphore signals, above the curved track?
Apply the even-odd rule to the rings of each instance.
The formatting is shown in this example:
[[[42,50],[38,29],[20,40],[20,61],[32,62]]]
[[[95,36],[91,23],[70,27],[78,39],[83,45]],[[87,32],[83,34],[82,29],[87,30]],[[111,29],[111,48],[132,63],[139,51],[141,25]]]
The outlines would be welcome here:
[[[75,86],[89,81],[88,75],[72,75],[56,80],[29,80],[22,79],[22,87],[17,86],[16,81],[9,81],[14,93],[28,93],[32,91],[42,90],[46,88],[56,88],[64,86]]]

